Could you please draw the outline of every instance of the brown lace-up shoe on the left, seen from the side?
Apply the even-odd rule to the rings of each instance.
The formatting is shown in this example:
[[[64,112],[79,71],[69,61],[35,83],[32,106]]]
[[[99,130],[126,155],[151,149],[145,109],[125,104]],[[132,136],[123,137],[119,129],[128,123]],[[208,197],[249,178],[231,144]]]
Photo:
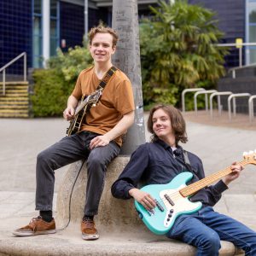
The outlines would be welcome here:
[[[41,216],[37,218],[32,218],[30,223],[25,227],[15,230],[13,234],[15,236],[37,236],[54,234],[55,230],[55,219],[53,218],[51,222],[45,222]]]

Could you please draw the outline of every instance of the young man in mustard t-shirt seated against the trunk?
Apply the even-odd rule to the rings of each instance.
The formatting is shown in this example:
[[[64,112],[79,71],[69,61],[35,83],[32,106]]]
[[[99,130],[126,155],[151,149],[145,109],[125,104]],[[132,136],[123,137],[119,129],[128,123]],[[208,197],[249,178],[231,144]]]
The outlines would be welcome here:
[[[105,74],[113,66],[111,57],[115,52],[118,36],[110,27],[97,26],[89,33],[90,54],[94,67],[85,69],[79,78],[63,116],[74,117],[75,108],[82,96],[96,91]],[[90,108],[78,133],[64,137],[60,142],[38,154],[37,161],[37,218],[30,224],[15,230],[15,236],[35,236],[55,233],[55,219],[52,217],[55,173],[61,166],[77,160],[87,160],[88,182],[84,218],[81,224],[82,238],[99,238],[93,220],[104,186],[107,166],[119,154],[121,136],[133,124],[134,101],[131,82],[119,69],[116,70],[102,91],[102,97],[95,108]]]

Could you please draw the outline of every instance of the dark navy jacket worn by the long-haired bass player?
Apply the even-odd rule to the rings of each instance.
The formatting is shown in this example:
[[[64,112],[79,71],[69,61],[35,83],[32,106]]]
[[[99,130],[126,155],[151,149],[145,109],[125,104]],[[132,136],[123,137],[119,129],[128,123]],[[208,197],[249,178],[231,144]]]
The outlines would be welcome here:
[[[140,187],[140,184],[165,184],[181,172],[189,172],[183,159],[183,148],[177,147],[175,156],[172,148],[161,140],[145,143],[131,154],[131,160],[125,166],[117,181],[112,185],[112,195],[120,199],[129,199],[129,190]],[[195,154],[188,153],[192,166],[193,178],[189,183],[195,183],[205,177],[201,159]],[[189,184],[188,183],[188,184]],[[221,193],[228,189],[223,181],[199,190],[190,201],[201,201],[204,205],[213,206],[221,197]]]

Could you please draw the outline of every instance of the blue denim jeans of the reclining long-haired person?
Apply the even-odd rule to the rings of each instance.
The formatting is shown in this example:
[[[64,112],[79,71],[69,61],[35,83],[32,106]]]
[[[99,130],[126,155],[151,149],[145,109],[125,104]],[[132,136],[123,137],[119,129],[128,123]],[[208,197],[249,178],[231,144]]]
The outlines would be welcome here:
[[[212,207],[179,216],[167,236],[197,247],[198,256],[217,256],[220,240],[231,241],[246,255],[256,255],[256,233],[236,219],[214,212]]]

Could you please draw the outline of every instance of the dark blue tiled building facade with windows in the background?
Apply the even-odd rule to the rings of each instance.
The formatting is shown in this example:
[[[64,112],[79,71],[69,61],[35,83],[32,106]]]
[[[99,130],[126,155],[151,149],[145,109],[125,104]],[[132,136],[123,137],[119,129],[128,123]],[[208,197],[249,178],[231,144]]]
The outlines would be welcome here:
[[[158,2],[138,0],[139,16],[148,15],[148,6]],[[235,43],[236,38],[256,42],[256,0],[188,2],[216,12],[218,26],[224,32],[221,43]],[[0,0],[0,67],[24,51],[27,67],[44,67],[44,60],[55,55],[58,47],[67,51],[82,45],[86,29],[96,26],[99,20],[111,26],[111,17],[111,0]],[[226,61],[228,67],[238,66],[238,49],[232,49]],[[256,46],[247,47],[243,64],[254,62]],[[21,66],[22,61],[17,61],[9,72],[19,73]]]

